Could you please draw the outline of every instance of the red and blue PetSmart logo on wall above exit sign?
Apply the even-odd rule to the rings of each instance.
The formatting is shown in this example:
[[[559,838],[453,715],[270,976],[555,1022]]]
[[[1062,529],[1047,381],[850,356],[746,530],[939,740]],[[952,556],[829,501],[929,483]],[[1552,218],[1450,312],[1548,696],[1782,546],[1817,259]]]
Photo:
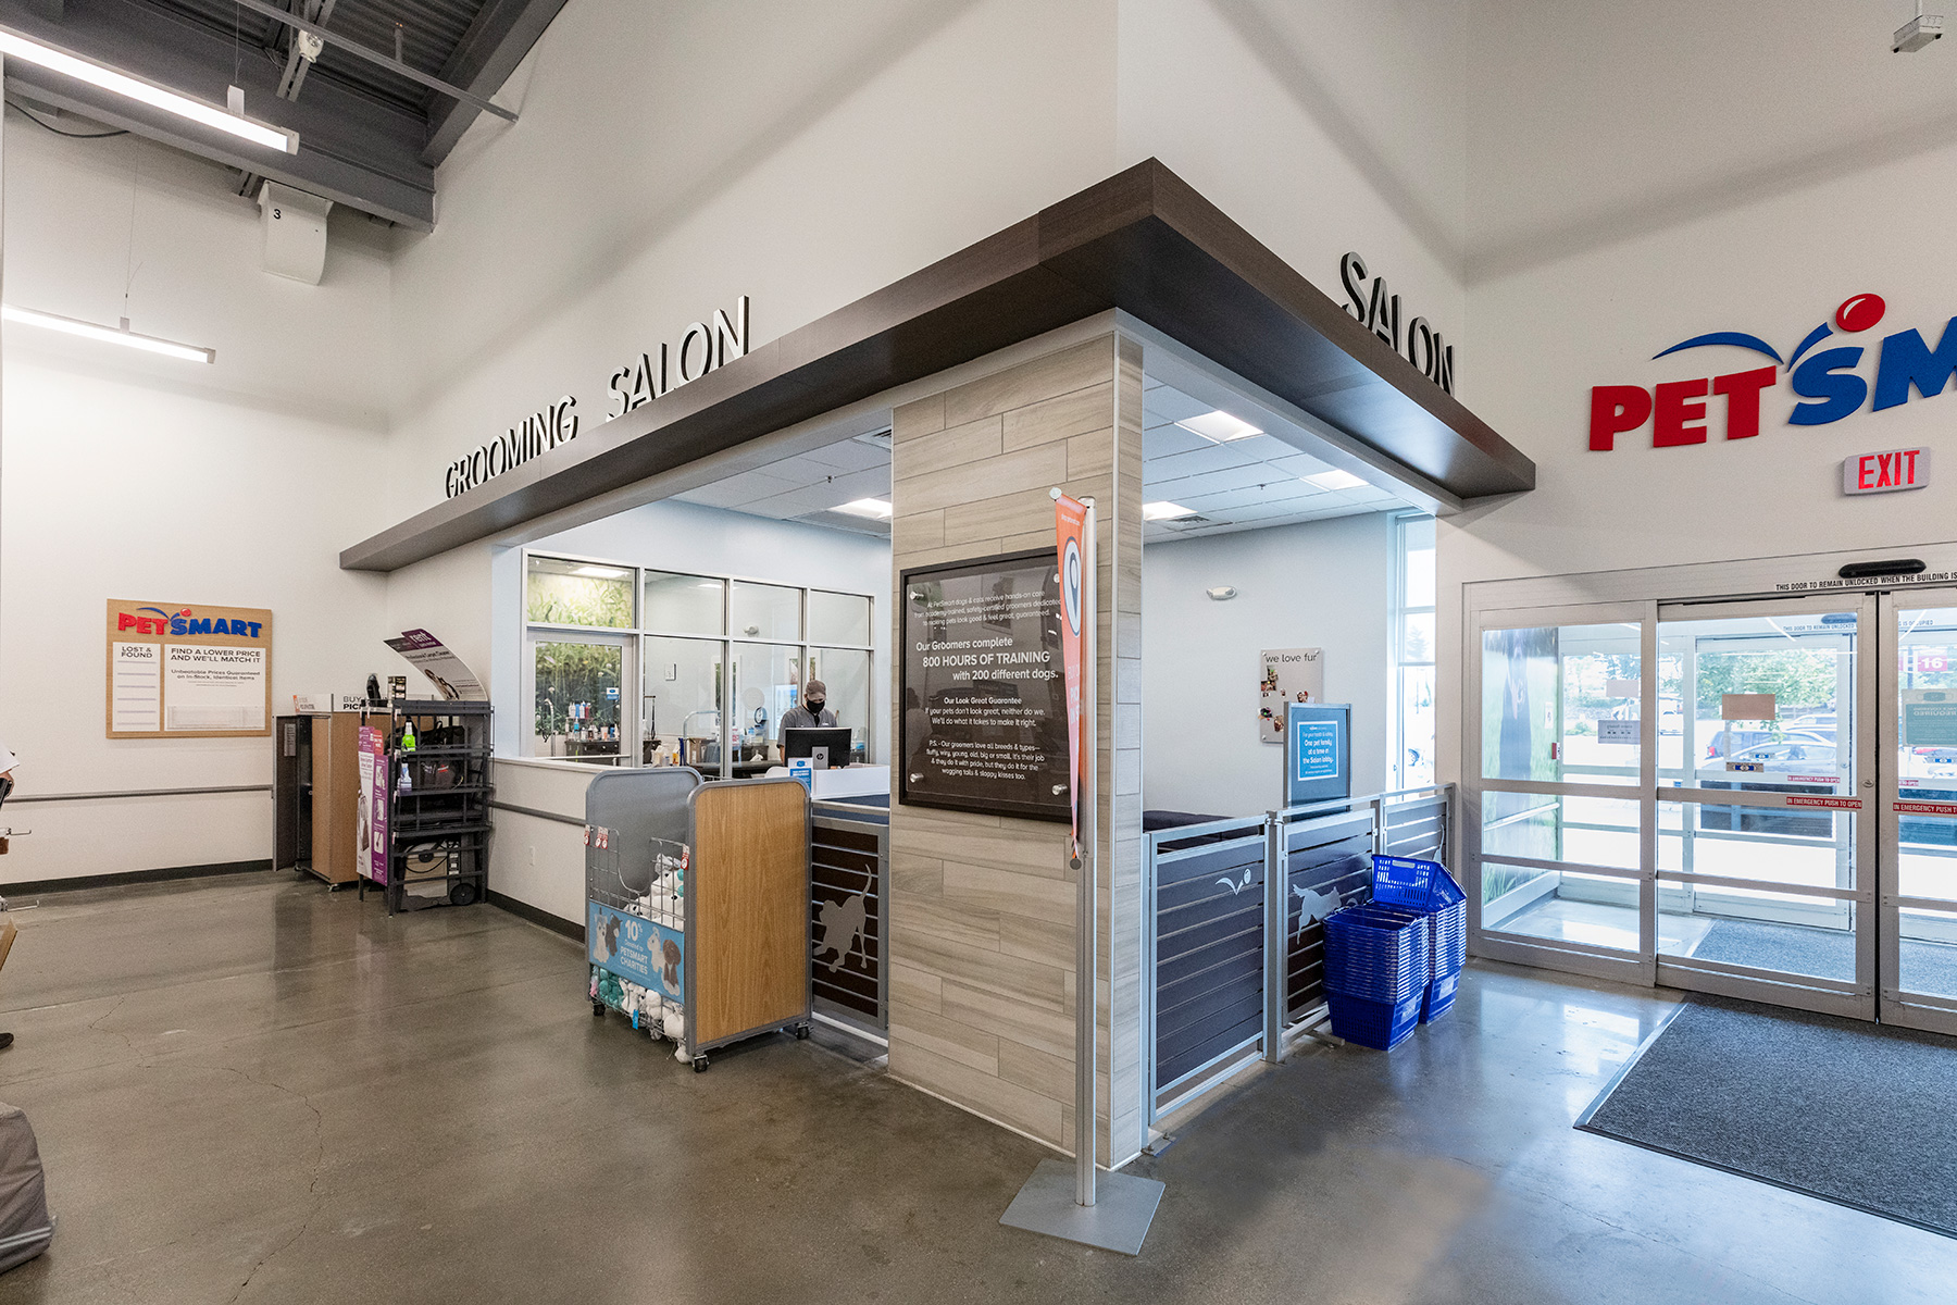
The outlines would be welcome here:
[[[1877,413],[1900,407],[1910,399],[1912,387],[1926,399],[1943,393],[1951,376],[1957,374],[1957,317],[1943,325],[1935,348],[1914,329],[1885,335],[1875,346],[1873,397],[1869,380],[1855,370],[1861,366],[1863,354],[1869,352],[1867,344],[1816,348],[1836,333],[1869,331],[1883,321],[1885,311],[1889,305],[1883,303],[1881,295],[1855,295],[1843,301],[1836,309],[1834,321],[1824,321],[1808,331],[1785,362],[1779,350],[1744,331],[1714,331],[1679,340],[1654,358],[1708,344],[1730,344],[1765,354],[1773,358],[1775,366],[1728,372],[1708,380],[1665,382],[1654,389],[1595,385],[1591,389],[1591,450],[1611,452],[1616,448],[1616,436],[1636,430],[1648,419],[1652,423],[1652,448],[1705,444],[1710,430],[1707,425],[1708,395],[1726,399],[1726,438],[1748,440],[1759,434],[1761,395],[1779,383],[1783,372],[1800,399],[1787,415],[1789,427],[1826,427],[1859,411],[1865,401]]]

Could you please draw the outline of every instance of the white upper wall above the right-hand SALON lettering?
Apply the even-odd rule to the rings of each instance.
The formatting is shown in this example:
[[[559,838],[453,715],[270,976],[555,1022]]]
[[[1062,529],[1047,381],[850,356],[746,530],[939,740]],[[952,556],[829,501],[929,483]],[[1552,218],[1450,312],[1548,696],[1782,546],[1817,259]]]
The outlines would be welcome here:
[[[1458,346],[1466,61],[1460,0],[1121,0],[1121,166],[1157,157],[1344,303],[1366,258]]]

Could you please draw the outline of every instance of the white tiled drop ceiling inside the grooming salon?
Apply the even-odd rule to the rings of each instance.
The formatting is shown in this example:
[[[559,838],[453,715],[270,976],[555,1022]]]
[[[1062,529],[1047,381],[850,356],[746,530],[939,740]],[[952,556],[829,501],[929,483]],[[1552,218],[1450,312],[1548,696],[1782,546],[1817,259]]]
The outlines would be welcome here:
[[[1333,472],[1333,464],[1301,452],[1303,432],[1252,434],[1227,444],[1211,444],[1178,427],[1182,419],[1213,411],[1149,376],[1143,380],[1143,499],[1170,501],[1196,517],[1151,520],[1145,544],[1292,526],[1329,517],[1356,517],[1405,507],[1391,489],[1366,483],[1354,489],[1321,489],[1305,475]],[[1374,473],[1382,483],[1386,475]],[[832,530],[888,538],[890,522],[851,517],[836,509],[855,499],[890,497],[888,434],[859,434],[763,468],[677,495],[683,503],[718,507],[751,517],[798,520]]]

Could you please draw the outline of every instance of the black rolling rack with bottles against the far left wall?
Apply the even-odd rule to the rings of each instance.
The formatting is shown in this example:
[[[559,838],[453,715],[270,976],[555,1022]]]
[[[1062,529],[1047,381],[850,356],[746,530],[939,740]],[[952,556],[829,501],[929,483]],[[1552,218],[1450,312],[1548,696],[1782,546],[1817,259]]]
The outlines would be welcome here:
[[[397,698],[366,714],[374,759],[372,884],[387,914],[481,902],[489,878],[491,710],[487,702]]]

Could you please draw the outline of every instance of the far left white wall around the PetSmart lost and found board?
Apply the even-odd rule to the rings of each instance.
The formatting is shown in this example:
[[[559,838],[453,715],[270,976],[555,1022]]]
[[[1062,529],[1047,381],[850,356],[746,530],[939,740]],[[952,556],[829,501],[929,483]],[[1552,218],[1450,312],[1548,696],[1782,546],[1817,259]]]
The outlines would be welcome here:
[[[274,710],[384,665],[384,581],[335,554],[387,524],[386,243],[335,215],[325,282],[284,282],[221,168],[12,112],[4,131],[6,301],[114,325],[127,284],[137,331],[217,348],[198,366],[0,337],[0,740],[23,757],[18,796],[266,785],[270,736],[104,738],[104,603],[270,608]],[[262,792],[10,804],[0,824],[33,830],[0,882],[272,855]]]

